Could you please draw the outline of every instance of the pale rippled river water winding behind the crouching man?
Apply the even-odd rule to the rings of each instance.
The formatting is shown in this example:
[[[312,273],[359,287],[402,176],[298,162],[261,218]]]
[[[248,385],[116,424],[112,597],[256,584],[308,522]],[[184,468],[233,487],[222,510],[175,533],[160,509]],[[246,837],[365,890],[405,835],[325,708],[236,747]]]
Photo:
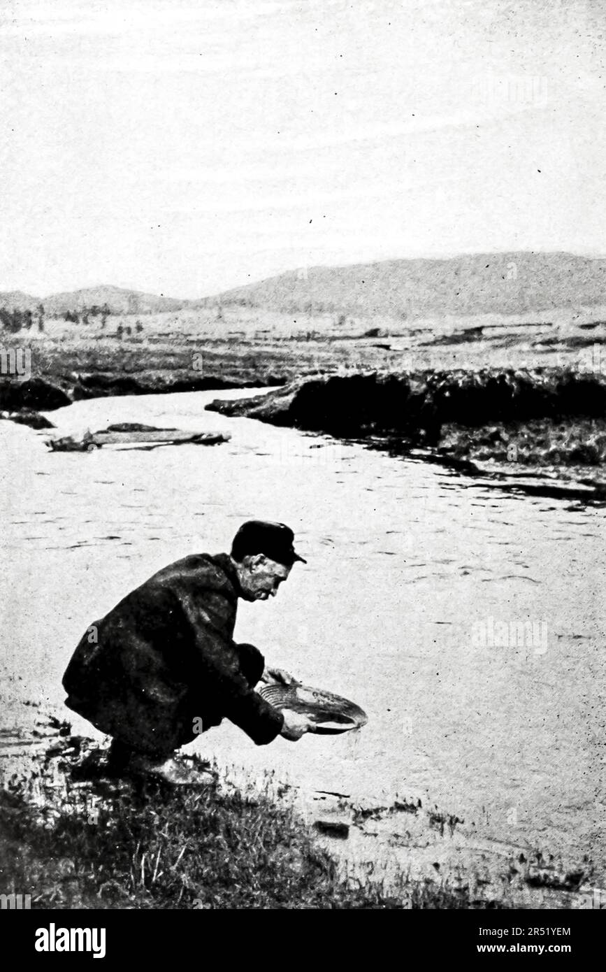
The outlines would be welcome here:
[[[480,841],[565,866],[589,855],[603,881],[603,510],[204,411],[238,394],[49,416],[61,434],[118,421],[229,431],[216,447],[50,453],[45,433],[0,423],[5,699],[94,735],[60,685],[86,626],[165,564],[228,549],[244,520],[281,520],[308,565],[270,602],[241,602],[236,638],[353,699],[368,724],[256,747],[224,723],[194,748],[315,790],[421,798]],[[20,717],[9,702],[5,723]]]

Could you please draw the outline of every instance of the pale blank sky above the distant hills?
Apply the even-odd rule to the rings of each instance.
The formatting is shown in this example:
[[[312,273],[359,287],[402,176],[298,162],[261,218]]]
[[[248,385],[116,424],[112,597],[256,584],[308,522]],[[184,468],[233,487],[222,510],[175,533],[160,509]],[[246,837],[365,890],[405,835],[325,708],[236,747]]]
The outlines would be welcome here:
[[[605,255],[602,0],[0,0],[0,291]]]

